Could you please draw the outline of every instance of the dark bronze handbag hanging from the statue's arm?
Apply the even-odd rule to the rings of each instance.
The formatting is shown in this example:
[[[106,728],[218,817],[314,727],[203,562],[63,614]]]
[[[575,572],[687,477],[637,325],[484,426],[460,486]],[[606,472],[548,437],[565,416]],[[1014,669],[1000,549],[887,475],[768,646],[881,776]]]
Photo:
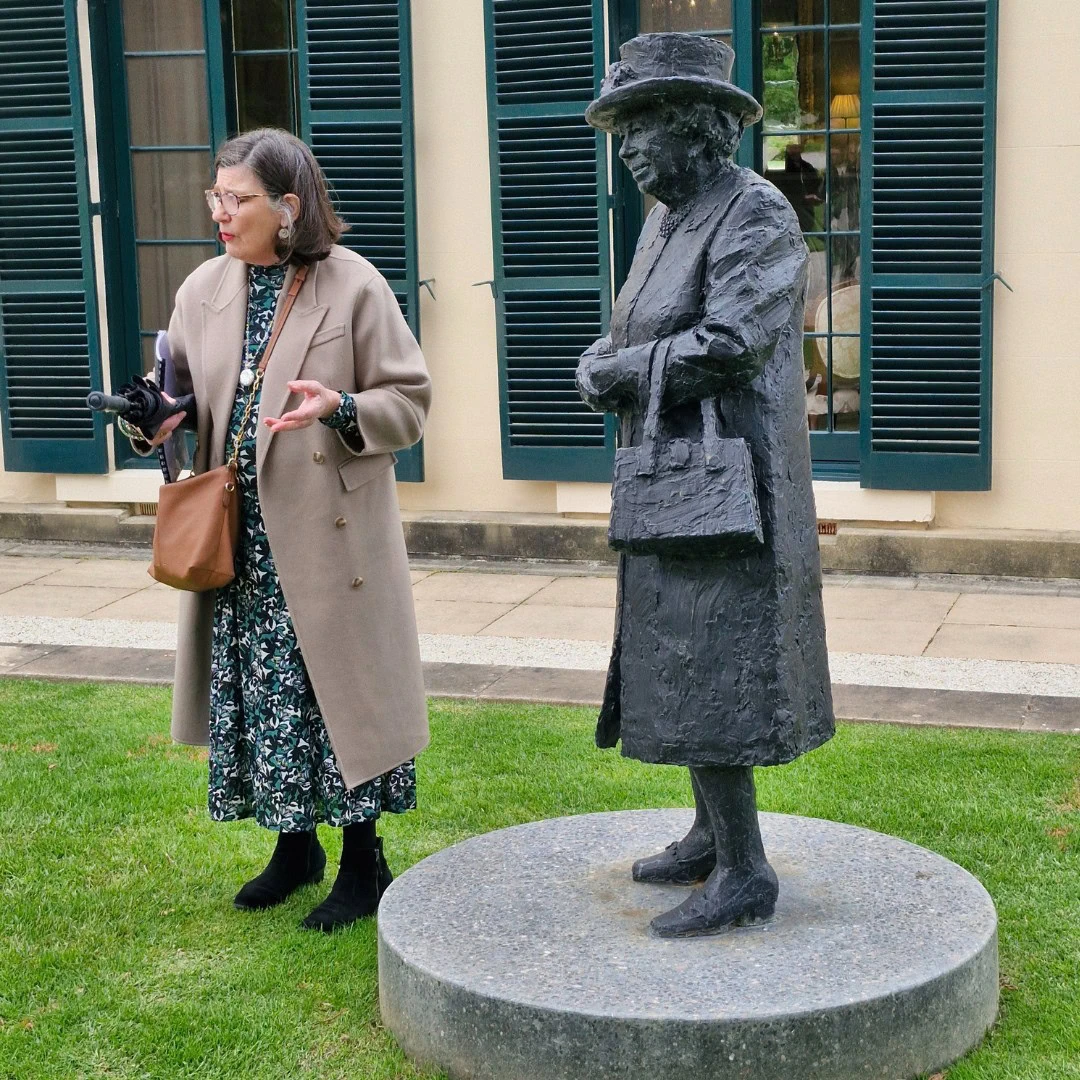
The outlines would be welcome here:
[[[702,441],[661,453],[663,372],[650,373],[639,446],[616,450],[608,543],[635,555],[738,556],[764,542],[746,440],[721,437],[715,400],[701,403]]]

